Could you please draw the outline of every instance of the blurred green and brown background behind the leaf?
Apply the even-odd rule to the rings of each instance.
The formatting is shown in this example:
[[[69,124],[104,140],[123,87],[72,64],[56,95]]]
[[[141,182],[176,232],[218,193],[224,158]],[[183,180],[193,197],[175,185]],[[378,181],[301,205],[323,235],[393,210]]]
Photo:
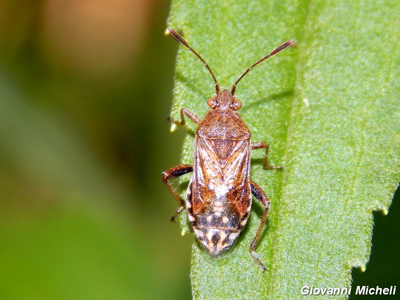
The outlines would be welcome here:
[[[168,9],[0,1],[0,299],[190,298],[193,236],[161,182],[185,134],[166,121]],[[399,282],[398,204],[354,284]]]

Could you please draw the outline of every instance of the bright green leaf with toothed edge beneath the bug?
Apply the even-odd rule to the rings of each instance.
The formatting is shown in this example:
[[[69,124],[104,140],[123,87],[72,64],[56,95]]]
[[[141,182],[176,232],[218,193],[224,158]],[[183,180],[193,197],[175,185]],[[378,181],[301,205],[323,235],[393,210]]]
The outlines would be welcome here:
[[[271,201],[256,248],[266,270],[248,251],[262,212],[254,199],[228,254],[214,259],[194,243],[193,297],[297,299],[304,285],[348,288],[351,268],[368,261],[371,212],[387,212],[400,176],[400,2],[175,0],[168,25],[223,88],[285,40],[297,43],[236,89],[252,141],[267,142],[270,162],[284,166],[263,170],[263,152],[252,153],[251,178]],[[203,117],[213,81],[182,46],[175,79],[172,116],[185,107]],[[189,134],[184,163],[192,143]]]

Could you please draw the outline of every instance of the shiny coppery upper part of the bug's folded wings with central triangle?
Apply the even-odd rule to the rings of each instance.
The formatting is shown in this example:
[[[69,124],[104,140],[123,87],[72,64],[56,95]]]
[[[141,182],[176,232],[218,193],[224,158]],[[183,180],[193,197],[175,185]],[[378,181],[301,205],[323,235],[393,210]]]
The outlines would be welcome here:
[[[214,200],[229,202],[243,215],[250,200],[250,142],[196,137],[193,165],[193,213],[207,209]],[[228,203],[227,203],[228,204]]]

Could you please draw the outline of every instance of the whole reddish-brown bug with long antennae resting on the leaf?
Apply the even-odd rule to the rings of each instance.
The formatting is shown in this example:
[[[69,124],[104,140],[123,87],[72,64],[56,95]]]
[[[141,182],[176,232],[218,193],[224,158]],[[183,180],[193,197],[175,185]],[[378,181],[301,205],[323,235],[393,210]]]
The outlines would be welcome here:
[[[230,90],[221,90],[205,60],[176,31],[169,27],[168,31],[204,63],[215,82],[215,94],[207,101],[210,109],[203,119],[186,108],[180,110],[180,121],[170,119],[175,125],[184,125],[184,116],[187,116],[197,124],[193,164],[178,165],[162,173],[162,181],[180,204],[171,220],[174,220],[186,206],[190,225],[199,244],[211,256],[218,257],[234,246],[247,222],[251,194],[253,194],[265,209],[249,249],[254,260],[264,271],[265,266],[254,249],[269,211],[269,199],[249,178],[251,150],[265,149],[262,163],[264,168],[281,169],[281,167],[268,164],[267,143],[250,142],[250,131],[236,111],[241,107],[241,102],[234,93],[237,83],[251,68],[291,45],[294,39],[284,42],[253,63],[233,83]],[[192,172],[192,176],[184,201],[168,180],[189,172]]]

